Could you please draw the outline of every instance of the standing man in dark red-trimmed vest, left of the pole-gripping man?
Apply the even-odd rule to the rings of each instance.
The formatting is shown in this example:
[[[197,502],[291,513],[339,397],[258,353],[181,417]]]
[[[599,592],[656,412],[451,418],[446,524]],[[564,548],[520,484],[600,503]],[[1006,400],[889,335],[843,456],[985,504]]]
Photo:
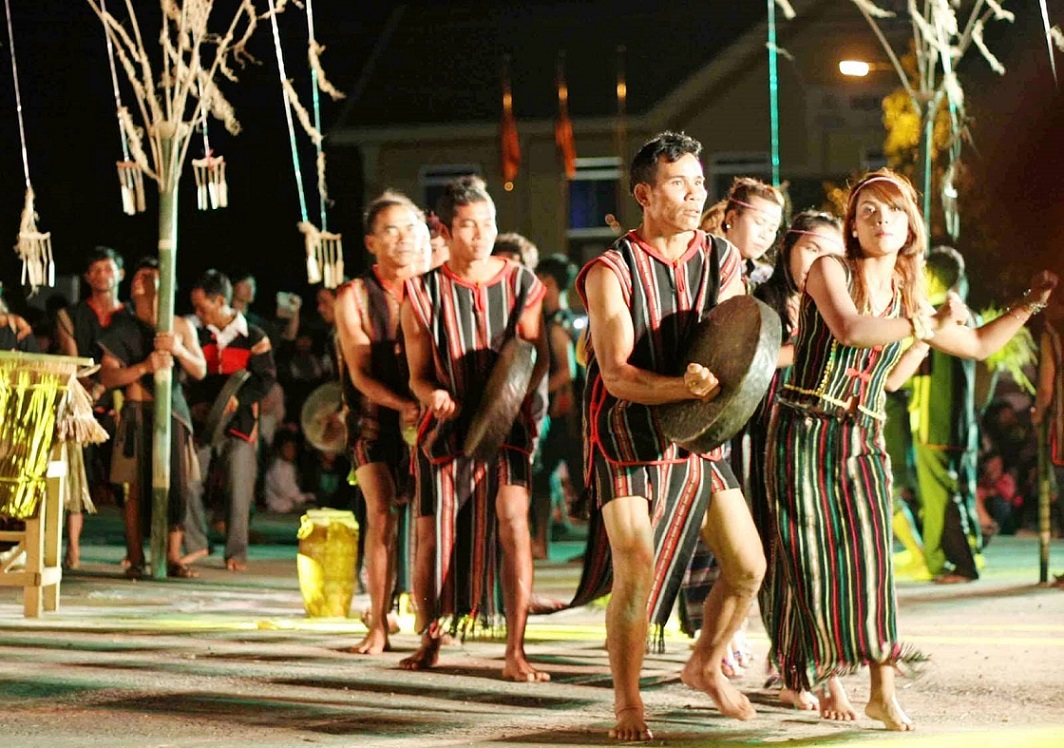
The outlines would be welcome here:
[[[96,247],[85,259],[82,279],[89,288],[88,297],[55,315],[55,338],[63,355],[82,356],[99,362],[99,342],[114,316],[124,306],[118,300],[118,287],[126,277],[122,255],[111,247]],[[85,471],[93,498],[110,491],[111,459],[115,436],[115,403],[112,394],[99,381],[99,376],[83,380],[93,397],[93,413],[111,437],[103,444],[85,445]],[[80,508],[69,508],[67,516],[67,551],[63,564],[68,569],[81,565],[81,529],[84,515]]]

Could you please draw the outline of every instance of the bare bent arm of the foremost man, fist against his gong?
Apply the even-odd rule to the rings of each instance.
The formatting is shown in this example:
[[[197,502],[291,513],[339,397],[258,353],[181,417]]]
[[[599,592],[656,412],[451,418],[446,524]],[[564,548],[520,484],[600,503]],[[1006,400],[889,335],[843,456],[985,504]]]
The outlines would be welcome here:
[[[595,359],[606,390],[621,400],[646,405],[695,399],[683,377],[666,377],[628,363],[635,346],[632,316],[617,277],[596,265],[584,281],[587,319]]]

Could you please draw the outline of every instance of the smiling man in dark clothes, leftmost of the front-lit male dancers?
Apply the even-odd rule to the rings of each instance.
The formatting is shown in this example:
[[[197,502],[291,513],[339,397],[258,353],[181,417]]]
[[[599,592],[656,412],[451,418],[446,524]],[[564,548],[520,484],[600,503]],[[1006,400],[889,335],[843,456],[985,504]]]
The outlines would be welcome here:
[[[410,372],[399,334],[404,282],[416,273],[425,222],[404,195],[384,193],[366,207],[366,249],[377,261],[361,277],[336,289],[335,320],[342,355],[340,379],[356,393],[348,408],[355,477],[366,500],[365,550],[369,592],[366,637],[360,654],[389,648],[387,615],[396,561],[400,504],[411,498],[410,446],[419,406],[410,392]]]

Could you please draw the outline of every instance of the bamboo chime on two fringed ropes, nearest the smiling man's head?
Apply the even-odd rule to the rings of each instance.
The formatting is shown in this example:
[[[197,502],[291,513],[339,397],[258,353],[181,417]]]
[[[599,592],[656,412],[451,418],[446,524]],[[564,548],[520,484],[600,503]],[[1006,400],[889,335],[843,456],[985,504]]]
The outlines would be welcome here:
[[[311,87],[313,93],[314,121],[311,114],[299,102],[296,89],[285,72],[284,54],[281,50],[281,33],[277,24],[275,1],[270,0],[270,27],[273,31],[273,50],[277,54],[278,74],[281,79],[281,96],[284,101],[284,115],[288,122],[288,139],[292,146],[292,165],[296,176],[296,192],[299,195],[299,210],[302,220],[299,232],[303,235],[303,246],[306,252],[306,281],[311,284],[321,283],[326,288],[335,288],[344,282],[344,244],[340,234],[329,231],[326,203],[329,193],[326,187],[326,156],[322,149],[321,112],[318,90],[322,90],[333,99],[342,99],[344,95],[336,90],[325,77],[321,68],[320,54],[323,51],[314,36],[314,5],[306,0],[306,27],[310,38],[307,56],[311,66]],[[314,143],[317,153],[318,204],[321,216],[321,228],[311,222],[306,210],[306,194],[303,188],[302,169],[299,162],[299,148],[296,142],[296,126],[292,117],[295,112],[299,123]]]

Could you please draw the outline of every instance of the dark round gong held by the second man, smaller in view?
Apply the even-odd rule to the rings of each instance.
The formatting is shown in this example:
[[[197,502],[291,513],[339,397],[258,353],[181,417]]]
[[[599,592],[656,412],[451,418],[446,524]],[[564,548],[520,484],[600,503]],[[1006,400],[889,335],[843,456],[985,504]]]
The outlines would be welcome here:
[[[498,454],[528,395],[535,359],[535,346],[526,339],[512,337],[502,345],[469,420],[462,448],[467,458],[488,462]]]

